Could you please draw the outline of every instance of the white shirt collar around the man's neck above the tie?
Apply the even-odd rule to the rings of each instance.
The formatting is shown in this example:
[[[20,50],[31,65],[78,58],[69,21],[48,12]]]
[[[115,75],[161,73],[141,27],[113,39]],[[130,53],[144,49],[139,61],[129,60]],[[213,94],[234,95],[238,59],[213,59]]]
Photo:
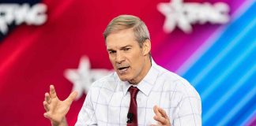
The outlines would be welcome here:
[[[130,86],[134,86],[134,87],[137,87],[143,94],[148,96],[150,91],[152,90],[152,87],[154,86],[154,83],[156,82],[156,78],[159,73],[159,71],[156,68],[157,68],[157,65],[155,61],[152,60],[152,66],[149,69],[149,72],[137,85],[130,84],[128,81],[120,80],[120,84],[122,84],[122,87],[123,87],[122,88],[123,95],[126,95]]]

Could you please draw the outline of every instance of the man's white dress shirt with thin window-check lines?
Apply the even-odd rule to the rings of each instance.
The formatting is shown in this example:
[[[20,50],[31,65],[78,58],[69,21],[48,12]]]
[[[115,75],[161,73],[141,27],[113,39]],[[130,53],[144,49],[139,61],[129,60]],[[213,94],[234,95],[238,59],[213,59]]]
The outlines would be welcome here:
[[[76,126],[126,125],[130,86],[116,72],[97,80],[88,91]],[[201,98],[182,77],[152,61],[151,69],[137,88],[140,90],[136,99],[139,125],[156,124],[155,105],[165,110],[171,126],[201,125]]]

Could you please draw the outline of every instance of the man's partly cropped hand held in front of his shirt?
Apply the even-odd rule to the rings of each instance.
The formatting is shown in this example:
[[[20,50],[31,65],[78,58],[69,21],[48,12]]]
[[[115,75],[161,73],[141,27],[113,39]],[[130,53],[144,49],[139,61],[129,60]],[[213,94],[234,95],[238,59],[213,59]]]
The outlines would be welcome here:
[[[154,113],[156,113],[154,119],[157,121],[157,124],[152,124],[152,126],[171,126],[170,119],[165,113],[164,109],[161,109],[158,106],[154,106]]]

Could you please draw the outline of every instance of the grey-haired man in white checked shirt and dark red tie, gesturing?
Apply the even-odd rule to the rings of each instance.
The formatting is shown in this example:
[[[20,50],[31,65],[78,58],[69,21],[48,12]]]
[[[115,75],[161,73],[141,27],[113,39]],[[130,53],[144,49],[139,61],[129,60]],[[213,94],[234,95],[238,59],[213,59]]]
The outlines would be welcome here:
[[[81,125],[201,125],[201,99],[186,80],[152,61],[149,31],[138,17],[121,15],[104,31],[115,72],[92,84],[77,118]],[[66,125],[77,92],[60,101],[45,94],[44,117]]]

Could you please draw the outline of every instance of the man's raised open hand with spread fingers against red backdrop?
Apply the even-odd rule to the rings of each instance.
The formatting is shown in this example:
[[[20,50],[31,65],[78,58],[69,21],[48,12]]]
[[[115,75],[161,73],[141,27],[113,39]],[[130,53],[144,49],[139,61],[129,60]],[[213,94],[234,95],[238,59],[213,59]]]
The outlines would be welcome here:
[[[46,110],[46,113],[43,113],[43,116],[51,120],[51,125],[67,125],[66,113],[68,113],[71,103],[76,96],[77,92],[73,91],[66,100],[60,101],[56,94],[55,87],[51,85],[50,92],[45,93],[43,107]]]

